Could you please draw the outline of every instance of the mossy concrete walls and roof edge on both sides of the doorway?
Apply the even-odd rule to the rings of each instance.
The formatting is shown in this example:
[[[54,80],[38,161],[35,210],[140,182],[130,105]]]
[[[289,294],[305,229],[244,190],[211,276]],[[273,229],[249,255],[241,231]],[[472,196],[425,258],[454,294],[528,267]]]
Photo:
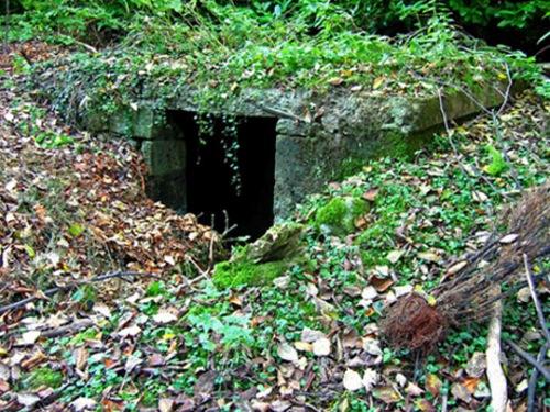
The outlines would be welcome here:
[[[151,96],[153,98],[153,96]],[[501,104],[503,93],[487,88],[472,97],[454,93],[443,99],[449,121],[463,119]],[[193,90],[167,102],[163,110],[197,111]],[[345,166],[382,155],[403,156],[426,145],[442,129],[439,97],[372,97],[342,91],[324,98],[310,92],[249,90],[219,113],[237,116],[274,116],[276,218],[287,215],[305,196],[342,175]],[[185,210],[185,135],[142,100],[109,119],[84,112],[86,127],[125,135],[141,147],[150,168],[150,196]]]

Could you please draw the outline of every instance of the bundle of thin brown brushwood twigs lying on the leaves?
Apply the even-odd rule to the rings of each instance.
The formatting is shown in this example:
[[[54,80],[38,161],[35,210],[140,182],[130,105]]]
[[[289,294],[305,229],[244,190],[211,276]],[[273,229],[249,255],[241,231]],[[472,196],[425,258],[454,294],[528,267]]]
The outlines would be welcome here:
[[[496,301],[525,285],[524,257],[532,263],[550,254],[549,220],[550,185],[525,193],[497,222],[505,235],[493,234],[466,256],[463,268],[432,291],[435,302],[414,292],[388,309],[382,329],[389,344],[428,353],[449,327],[487,319]]]

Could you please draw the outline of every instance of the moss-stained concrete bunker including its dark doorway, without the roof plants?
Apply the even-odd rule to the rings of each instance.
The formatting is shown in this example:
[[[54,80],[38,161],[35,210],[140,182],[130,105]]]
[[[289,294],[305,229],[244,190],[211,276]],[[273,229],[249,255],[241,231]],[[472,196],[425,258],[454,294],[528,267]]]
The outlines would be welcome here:
[[[449,121],[503,102],[505,85],[474,93],[438,96],[372,96],[345,90],[328,96],[307,91],[244,90],[211,113],[213,133],[200,143],[193,89],[158,104],[152,96],[105,118],[81,113],[82,125],[123,135],[141,147],[147,165],[147,194],[180,212],[194,212],[216,229],[229,223],[231,234],[260,236],[272,223],[292,215],[307,194],[327,181],[361,168],[380,156],[410,155]],[[223,118],[237,119],[237,165],[241,191],[231,182],[226,162]],[[230,133],[231,134],[231,133]]]

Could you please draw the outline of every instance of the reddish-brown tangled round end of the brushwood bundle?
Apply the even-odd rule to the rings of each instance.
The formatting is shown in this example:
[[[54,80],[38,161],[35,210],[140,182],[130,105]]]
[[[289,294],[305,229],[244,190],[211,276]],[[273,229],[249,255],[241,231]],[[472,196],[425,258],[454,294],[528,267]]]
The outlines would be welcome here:
[[[431,352],[443,341],[448,322],[418,293],[399,299],[388,309],[382,333],[393,347]]]

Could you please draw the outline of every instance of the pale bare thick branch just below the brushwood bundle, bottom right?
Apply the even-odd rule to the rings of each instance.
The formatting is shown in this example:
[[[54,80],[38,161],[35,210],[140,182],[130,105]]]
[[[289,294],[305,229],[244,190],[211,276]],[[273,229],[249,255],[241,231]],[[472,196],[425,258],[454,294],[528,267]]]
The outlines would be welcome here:
[[[498,288],[499,289],[499,288]],[[501,322],[502,302],[494,304],[493,316],[488,325],[487,349],[487,380],[491,388],[491,409],[494,412],[505,412],[508,403],[506,377],[501,366]]]

